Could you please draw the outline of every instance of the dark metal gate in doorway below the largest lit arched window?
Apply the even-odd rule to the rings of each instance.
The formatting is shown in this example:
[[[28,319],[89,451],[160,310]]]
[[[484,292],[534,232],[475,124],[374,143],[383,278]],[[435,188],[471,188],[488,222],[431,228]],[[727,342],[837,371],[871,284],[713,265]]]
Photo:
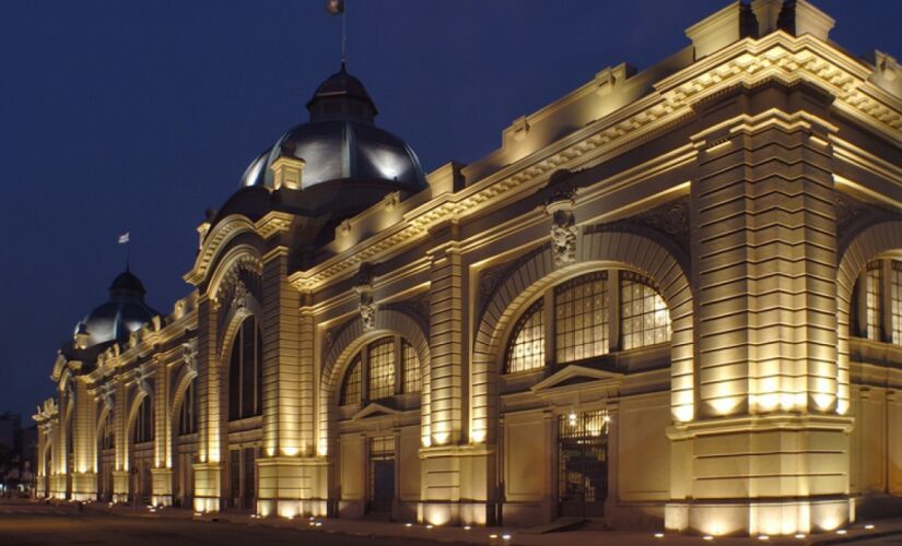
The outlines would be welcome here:
[[[561,515],[605,515],[608,497],[607,412],[562,415],[558,422]]]

